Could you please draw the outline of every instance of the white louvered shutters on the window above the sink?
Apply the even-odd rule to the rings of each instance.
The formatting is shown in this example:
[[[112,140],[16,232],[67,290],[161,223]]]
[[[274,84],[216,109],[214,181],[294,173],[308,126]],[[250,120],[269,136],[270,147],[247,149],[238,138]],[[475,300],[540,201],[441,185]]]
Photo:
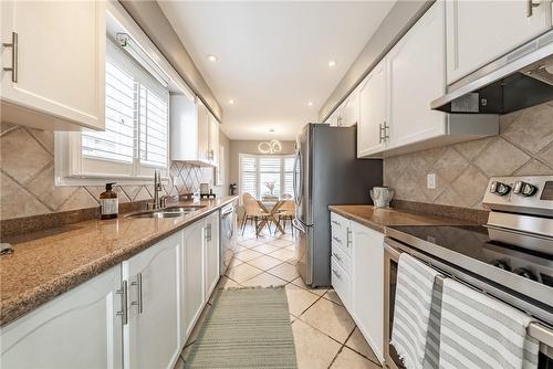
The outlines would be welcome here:
[[[169,92],[111,42],[105,105],[105,131],[81,136],[83,172],[139,177],[167,169]]]

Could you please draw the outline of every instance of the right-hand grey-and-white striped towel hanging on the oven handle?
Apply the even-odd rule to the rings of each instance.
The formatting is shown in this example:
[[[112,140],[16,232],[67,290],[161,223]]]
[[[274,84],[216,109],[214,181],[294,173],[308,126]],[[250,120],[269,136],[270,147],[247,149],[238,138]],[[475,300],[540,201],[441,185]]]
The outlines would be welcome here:
[[[444,281],[440,368],[538,368],[524,313],[453,280]]]

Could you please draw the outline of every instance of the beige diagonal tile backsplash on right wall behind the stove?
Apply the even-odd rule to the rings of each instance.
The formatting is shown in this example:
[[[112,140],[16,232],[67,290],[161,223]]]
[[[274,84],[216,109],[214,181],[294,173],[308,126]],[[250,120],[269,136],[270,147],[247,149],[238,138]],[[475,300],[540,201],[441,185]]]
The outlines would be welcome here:
[[[501,116],[500,136],[384,160],[384,183],[397,199],[463,208],[482,208],[490,177],[519,175],[553,176],[553,103]]]

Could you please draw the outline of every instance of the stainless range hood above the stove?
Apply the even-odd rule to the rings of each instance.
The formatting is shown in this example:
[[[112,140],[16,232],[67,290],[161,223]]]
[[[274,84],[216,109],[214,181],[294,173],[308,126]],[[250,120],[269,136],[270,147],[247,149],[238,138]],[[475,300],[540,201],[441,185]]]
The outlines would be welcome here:
[[[553,99],[553,30],[451,84],[430,103],[456,114],[507,114]]]

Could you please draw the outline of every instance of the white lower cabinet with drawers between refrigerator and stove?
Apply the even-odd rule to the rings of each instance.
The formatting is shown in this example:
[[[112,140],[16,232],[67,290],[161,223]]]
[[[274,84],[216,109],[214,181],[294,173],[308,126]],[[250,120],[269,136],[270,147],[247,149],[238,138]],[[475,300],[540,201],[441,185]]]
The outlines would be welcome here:
[[[384,234],[332,213],[346,228],[351,257],[332,243],[332,286],[376,357],[384,361]],[[334,236],[333,228],[333,236]]]

